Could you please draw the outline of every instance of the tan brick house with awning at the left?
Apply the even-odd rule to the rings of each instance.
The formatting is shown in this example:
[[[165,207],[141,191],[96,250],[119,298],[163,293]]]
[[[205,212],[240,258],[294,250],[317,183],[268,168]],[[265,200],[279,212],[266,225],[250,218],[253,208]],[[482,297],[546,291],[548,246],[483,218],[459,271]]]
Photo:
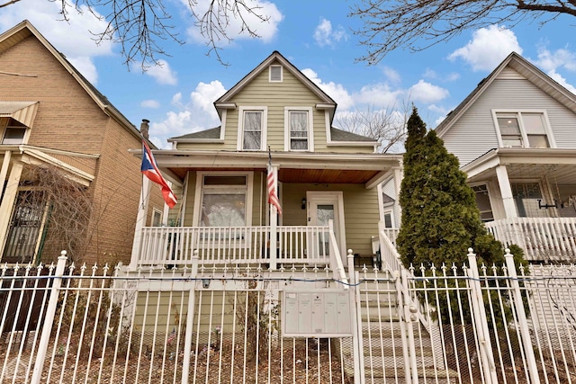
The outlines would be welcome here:
[[[64,249],[76,262],[128,262],[139,130],[28,21],[0,35],[0,79],[0,261],[46,263]],[[47,174],[73,183],[49,190]],[[151,201],[148,222],[161,222],[157,190]]]

